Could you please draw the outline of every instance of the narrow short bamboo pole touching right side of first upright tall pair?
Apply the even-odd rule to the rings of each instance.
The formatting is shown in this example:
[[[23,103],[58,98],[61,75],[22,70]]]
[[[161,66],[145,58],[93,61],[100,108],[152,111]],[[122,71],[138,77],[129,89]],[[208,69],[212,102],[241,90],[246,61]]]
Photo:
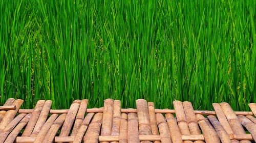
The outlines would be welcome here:
[[[119,143],[128,143],[128,140],[127,140],[127,119],[128,119],[127,114],[122,113],[121,114],[121,122],[120,122]]]

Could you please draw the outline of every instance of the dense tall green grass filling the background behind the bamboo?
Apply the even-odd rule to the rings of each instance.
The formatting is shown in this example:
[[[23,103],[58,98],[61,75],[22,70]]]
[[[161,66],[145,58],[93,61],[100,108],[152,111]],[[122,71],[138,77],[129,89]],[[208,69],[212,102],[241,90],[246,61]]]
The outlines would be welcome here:
[[[256,1],[0,1],[0,94],[195,109],[256,102]]]

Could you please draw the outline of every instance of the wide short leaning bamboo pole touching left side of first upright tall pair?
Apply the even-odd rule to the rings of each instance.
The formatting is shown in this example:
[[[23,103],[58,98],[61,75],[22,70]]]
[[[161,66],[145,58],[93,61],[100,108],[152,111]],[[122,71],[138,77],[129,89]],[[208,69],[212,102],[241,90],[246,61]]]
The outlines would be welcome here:
[[[84,136],[84,143],[98,143],[103,113],[96,113]]]

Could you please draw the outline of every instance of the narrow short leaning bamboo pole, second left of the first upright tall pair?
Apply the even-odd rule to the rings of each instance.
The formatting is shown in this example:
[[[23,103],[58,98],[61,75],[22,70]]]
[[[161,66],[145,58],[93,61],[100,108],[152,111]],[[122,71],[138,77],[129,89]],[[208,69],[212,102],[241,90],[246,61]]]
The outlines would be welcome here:
[[[79,131],[77,132],[77,134],[74,138],[73,143],[80,143],[82,141],[83,135],[86,132],[93,116],[94,116],[93,112],[87,114],[86,118],[83,120],[83,122],[81,124]]]

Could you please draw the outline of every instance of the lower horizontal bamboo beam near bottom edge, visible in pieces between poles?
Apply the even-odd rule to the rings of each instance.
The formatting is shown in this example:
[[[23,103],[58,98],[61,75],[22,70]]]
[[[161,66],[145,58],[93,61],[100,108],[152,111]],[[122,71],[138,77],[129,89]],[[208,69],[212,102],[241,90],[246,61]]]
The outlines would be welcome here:
[[[139,135],[140,141],[161,141],[160,135]],[[237,139],[237,140],[253,140],[251,134],[233,134],[229,136],[230,139]],[[17,143],[32,143],[35,140],[35,137],[25,137],[25,136],[18,136],[16,138]],[[191,141],[196,141],[196,140],[202,140],[204,141],[204,135],[199,134],[199,135],[182,135],[182,140],[191,140]],[[56,136],[54,139],[54,142],[73,142],[74,141],[74,136],[65,136],[65,137],[60,137]],[[119,136],[118,135],[108,135],[108,136],[99,136],[99,142],[111,142],[111,141],[119,141]]]

